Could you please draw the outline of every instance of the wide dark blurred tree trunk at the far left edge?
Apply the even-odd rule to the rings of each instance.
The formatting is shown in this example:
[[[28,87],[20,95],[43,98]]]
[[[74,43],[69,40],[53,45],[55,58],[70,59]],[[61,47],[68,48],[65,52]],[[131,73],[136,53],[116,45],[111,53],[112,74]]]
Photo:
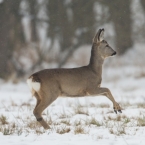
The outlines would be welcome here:
[[[17,70],[13,63],[14,50],[18,51],[24,43],[20,0],[4,0],[0,4],[0,77],[8,78]]]

